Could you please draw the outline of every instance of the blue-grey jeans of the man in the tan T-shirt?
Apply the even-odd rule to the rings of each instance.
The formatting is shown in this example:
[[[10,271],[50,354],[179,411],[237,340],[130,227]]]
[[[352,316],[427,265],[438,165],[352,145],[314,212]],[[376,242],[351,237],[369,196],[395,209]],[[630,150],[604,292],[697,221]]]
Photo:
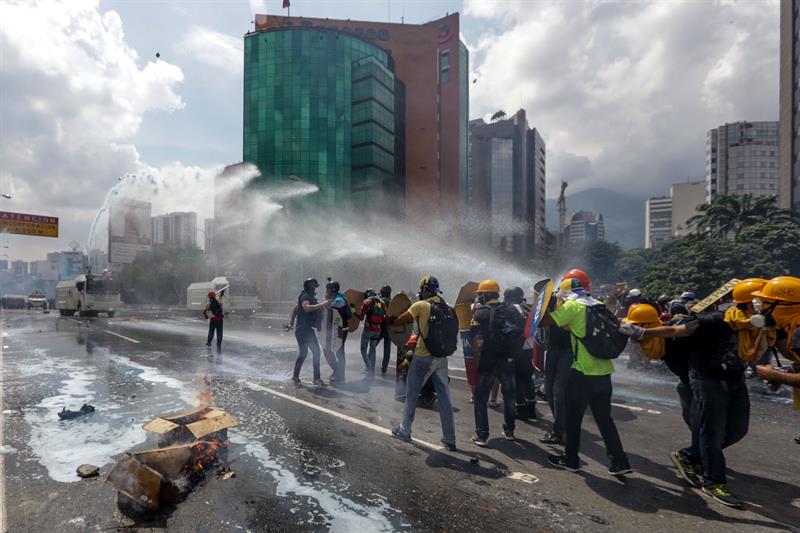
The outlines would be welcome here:
[[[428,379],[433,382],[436,396],[439,400],[439,418],[442,422],[442,433],[448,444],[455,444],[456,429],[453,421],[453,407],[450,404],[448,391],[447,358],[416,355],[411,360],[408,369],[408,383],[406,385],[406,401],[403,405],[403,422],[400,424],[400,433],[411,435],[411,425],[414,423],[414,412],[417,409],[417,399],[422,386]]]

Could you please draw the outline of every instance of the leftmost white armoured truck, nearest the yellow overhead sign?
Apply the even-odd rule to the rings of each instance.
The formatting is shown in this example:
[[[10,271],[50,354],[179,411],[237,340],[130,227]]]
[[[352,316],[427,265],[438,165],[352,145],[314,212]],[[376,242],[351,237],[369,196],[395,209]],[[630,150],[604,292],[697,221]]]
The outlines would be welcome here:
[[[108,276],[81,274],[56,285],[56,309],[61,316],[97,316],[112,318],[122,307],[119,282]]]

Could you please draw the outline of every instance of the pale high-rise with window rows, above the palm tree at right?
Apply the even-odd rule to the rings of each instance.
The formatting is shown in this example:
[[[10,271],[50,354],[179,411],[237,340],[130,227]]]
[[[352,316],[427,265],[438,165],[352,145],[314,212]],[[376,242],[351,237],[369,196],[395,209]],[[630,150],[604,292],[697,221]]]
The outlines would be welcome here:
[[[778,194],[778,123],[733,122],[706,136],[706,199]]]

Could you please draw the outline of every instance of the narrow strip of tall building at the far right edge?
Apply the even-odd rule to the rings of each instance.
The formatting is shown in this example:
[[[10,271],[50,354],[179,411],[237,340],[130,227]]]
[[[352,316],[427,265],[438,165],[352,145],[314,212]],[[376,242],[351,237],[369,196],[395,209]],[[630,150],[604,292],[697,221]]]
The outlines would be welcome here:
[[[800,208],[800,2],[781,2],[780,166],[778,198],[781,207]]]

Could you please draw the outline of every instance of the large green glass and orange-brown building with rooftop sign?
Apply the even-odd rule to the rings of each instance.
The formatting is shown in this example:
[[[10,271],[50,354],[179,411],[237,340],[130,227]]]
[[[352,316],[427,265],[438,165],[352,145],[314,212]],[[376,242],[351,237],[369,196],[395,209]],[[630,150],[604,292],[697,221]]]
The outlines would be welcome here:
[[[457,13],[421,25],[255,22],[244,37],[243,161],[262,181],[318,185],[304,199],[314,207],[463,215],[469,84]]]

